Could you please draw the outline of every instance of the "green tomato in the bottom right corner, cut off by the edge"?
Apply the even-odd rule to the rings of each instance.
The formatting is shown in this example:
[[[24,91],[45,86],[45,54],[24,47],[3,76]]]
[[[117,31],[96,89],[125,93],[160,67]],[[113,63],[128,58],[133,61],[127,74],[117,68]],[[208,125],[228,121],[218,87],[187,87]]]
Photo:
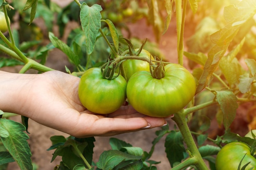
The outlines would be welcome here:
[[[246,154],[246,155],[245,155]],[[243,157],[245,158],[243,159]],[[246,163],[249,165],[245,170],[256,170],[256,159],[250,154],[250,148],[242,142],[231,142],[223,148],[216,157],[216,170],[238,170],[240,161],[243,159],[241,167]]]

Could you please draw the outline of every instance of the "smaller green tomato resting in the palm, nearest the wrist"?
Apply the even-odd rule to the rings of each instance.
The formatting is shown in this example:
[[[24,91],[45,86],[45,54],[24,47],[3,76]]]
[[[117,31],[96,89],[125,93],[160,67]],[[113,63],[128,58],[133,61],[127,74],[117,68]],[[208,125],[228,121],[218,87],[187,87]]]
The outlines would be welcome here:
[[[112,113],[124,104],[126,85],[126,80],[121,75],[111,80],[103,79],[101,68],[90,68],[79,82],[79,99],[93,113]]]

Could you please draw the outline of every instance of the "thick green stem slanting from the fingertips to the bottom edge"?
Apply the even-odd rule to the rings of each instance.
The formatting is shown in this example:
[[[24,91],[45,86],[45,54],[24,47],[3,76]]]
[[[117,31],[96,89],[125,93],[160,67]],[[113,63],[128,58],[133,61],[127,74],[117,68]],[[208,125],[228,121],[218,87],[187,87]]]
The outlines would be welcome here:
[[[204,163],[204,160],[202,159],[200,152],[198,151],[198,148],[195,144],[195,141],[191,135],[189,126],[186,123],[186,113],[184,112],[184,110],[176,113],[172,119],[176,122],[177,126],[180,129],[180,132],[182,133],[187,149],[191,153],[191,158],[195,159],[193,161],[193,165],[195,165],[198,170],[209,170],[209,168]]]

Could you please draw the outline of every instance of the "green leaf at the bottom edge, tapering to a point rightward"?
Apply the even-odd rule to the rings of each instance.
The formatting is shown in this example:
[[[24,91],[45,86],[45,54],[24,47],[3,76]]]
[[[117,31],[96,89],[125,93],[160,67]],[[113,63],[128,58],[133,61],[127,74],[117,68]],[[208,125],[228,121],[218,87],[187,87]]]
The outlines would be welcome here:
[[[139,159],[141,159],[141,156],[130,155],[119,150],[107,150],[100,155],[99,161],[96,164],[100,169],[112,170],[119,163],[130,160],[137,161]]]

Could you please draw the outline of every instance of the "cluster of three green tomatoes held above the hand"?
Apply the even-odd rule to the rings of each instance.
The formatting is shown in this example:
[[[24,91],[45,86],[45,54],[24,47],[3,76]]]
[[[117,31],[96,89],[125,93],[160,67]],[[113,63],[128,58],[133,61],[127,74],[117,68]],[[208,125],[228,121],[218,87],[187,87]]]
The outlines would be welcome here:
[[[142,52],[142,56],[150,57],[147,51]],[[127,97],[139,113],[168,117],[184,108],[195,95],[193,75],[179,64],[164,66],[164,77],[159,79],[149,72],[148,62],[127,60],[123,64],[128,82],[122,75],[104,79],[100,68],[90,68],[82,75],[78,93],[85,108],[99,114],[112,113]]]

